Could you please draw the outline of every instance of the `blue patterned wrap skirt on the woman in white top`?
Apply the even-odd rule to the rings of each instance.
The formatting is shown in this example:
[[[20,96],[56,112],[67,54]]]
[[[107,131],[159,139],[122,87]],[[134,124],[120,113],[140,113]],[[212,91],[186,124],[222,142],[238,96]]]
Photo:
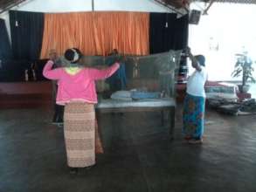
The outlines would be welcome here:
[[[183,136],[202,139],[204,134],[205,98],[186,94],[183,104]]]

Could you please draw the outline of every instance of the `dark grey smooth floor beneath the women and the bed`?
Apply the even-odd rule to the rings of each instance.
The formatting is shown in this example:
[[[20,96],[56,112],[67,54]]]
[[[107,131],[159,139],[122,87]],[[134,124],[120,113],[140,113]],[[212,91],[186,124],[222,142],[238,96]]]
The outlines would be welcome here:
[[[255,192],[256,116],[206,113],[204,144],[183,144],[181,106],[175,140],[159,113],[105,114],[105,154],[69,175],[63,129],[44,109],[0,111],[1,192]]]

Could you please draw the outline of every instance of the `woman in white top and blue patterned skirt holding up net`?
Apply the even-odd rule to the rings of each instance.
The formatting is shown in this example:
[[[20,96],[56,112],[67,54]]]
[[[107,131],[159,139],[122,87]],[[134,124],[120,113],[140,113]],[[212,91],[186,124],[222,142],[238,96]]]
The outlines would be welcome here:
[[[203,55],[193,56],[188,49],[189,58],[195,72],[187,83],[186,97],[183,104],[183,135],[189,143],[202,143],[204,134],[204,84],[207,80],[205,58]]]

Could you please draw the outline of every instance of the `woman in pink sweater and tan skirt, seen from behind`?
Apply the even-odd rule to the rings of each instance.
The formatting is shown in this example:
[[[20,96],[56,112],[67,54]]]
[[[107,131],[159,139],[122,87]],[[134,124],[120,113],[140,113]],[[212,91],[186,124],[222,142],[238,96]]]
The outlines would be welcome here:
[[[58,80],[56,103],[65,106],[64,137],[71,173],[95,164],[95,80],[107,79],[120,67],[115,63],[104,70],[86,68],[79,65],[81,57],[78,49],[68,49],[65,58],[71,63],[69,67],[52,69],[50,59],[43,71],[45,78]]]

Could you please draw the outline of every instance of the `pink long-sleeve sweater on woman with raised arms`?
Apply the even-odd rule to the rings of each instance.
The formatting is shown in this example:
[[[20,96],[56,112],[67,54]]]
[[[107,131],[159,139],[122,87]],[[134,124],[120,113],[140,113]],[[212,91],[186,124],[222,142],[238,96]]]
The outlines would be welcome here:
[[[52,70],[52,65],[52,60],[49,60],[44,67],[43,75],[47,79],[58,80],[56,103],[59,105],[65,105],[70,101],[97,103],[95,80],[107,79],[120,67],[119,63],[115,63],[104,70],[83,68],[80,72],[71,75],[65,68]]]

